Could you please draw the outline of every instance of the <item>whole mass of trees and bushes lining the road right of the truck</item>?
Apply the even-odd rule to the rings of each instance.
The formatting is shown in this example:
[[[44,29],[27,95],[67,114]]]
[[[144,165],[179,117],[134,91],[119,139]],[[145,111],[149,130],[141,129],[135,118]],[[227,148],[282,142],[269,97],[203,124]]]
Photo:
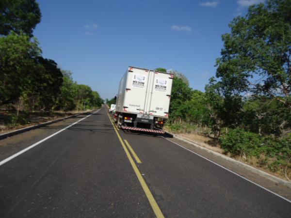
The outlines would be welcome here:
[[[206,135],[225,154],[290,180],[291,0],[253,5],[229,27],[205,93],[174,72],[166,128]]]

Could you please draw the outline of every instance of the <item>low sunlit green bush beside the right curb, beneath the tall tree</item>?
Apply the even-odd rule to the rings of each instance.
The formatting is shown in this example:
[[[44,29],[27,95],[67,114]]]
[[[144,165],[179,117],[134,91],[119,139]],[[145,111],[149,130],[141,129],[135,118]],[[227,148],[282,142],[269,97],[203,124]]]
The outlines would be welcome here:
[[[261,137],[241,128],[223,132],[219,138],[221,147],[232,156],[255,156],[260,166],[283,174],[287,179],[291,170],[291,135],[285,138]]]

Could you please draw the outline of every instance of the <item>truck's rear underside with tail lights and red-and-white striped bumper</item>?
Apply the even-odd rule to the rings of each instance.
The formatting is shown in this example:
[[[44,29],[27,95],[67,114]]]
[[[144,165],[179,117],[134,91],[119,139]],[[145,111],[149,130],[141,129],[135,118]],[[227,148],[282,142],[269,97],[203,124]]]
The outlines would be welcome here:
[[[119,113],[114,114],[114,120],[121,129],[165,133],[162,130],[165,119],[144,114]]]

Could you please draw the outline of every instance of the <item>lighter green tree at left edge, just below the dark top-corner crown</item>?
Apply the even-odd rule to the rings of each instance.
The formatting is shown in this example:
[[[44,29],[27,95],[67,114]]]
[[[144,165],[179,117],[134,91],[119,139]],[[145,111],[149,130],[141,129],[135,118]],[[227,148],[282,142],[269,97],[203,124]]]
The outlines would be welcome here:
[[[29,86],[29,75],[37,69],[41,54],[36,39],[12,32],[0,37],[0,105],[12,103]]]

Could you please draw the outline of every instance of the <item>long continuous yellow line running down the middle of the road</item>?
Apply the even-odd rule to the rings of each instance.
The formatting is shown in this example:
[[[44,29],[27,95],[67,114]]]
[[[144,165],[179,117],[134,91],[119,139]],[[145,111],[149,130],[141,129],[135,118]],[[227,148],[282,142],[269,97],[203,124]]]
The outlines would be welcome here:
[[[110,119],[109,114],[107,114],[107,115],[108,115],[108,117],[109,117],[109,119]],[[116,132],[116,135],[117,135],[117,137],[118,137],[118,139],[119,139],[119,141],[120,141],[120,143],[121,143],[121,145],[122,145],[122,147],[123,147],[123,149],[124,149],[124,151],[125,151],[127,157],[129,158],[129,162],[130,162],[130,164],[131,164],[131,166],[132,166],[132,168],[133,168],[133,171],[135,172],[135,174],[136,174],[136,176],[137,176],[137,178],[138,178],[140,184],[142,185],[142,188],[144,189],[144,192],[146,193],[147,200],[148,200],[148,202],[150,203],[150,205],[151,205],[151,207],[152,207],[152,209],[153,209],[153,211],[154,211],[156,217],[157,217],[157,218],[164,218],[164,216],[163,216],[163,214],[162,214],[162,211],[161,211],[161,209],[160,209],[158,203],[156,202],[156,200],[154,199],[154,196],[152,195],[152,193],[150,192],[149,188],[147,187],[147,185],[146,185],[146,181],[144,180],[144,178],[143,178],[141,172],[138,170],[138,168],[137,168],[137,166],[136,166],[134,160],[133,160],[132,157],[130,156],[130,154],[129,154],[129,150],[128,150],[127,147],[125,146],[125,144],[124,144],[124,142],[123,142],[121,136],[119,135],[119,133],[118,133],[117,129],[115,128],[115,125],[113,124],[113,122],[112,122],[111,119],[110,119],[110,122],[111,122],[112,125],[113,125],[113,128],[114,128],[114,130],[115,130],[115,132]]]

